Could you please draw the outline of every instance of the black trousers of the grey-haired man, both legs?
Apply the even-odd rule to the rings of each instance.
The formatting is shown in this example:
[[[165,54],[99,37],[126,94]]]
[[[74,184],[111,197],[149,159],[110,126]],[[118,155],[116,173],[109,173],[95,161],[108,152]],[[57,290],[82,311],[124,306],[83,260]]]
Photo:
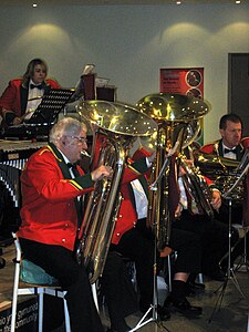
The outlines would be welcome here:
[[[60,246],[43,245],[20,238],[27,259],[42,267],[56,278],[68,291],[71,328],[73,332],[98,332],[103,326],[95,308],[89,277],[73,253]],[[112,325],[137,311],[137,297],[128,277],[126,266],[117,252],[108,252],[103,276],[100,278]]]

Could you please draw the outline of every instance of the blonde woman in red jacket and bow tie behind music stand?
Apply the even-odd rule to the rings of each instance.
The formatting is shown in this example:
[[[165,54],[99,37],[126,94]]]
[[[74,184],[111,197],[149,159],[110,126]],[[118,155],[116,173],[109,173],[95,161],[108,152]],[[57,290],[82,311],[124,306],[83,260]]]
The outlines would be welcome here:
[[[18,125],[29,118],[50,89],[60,89],[60,84],[46,79],[48,65],[41,59],[33,59],[22,77],[11,80],[0,97],[2,125]]]

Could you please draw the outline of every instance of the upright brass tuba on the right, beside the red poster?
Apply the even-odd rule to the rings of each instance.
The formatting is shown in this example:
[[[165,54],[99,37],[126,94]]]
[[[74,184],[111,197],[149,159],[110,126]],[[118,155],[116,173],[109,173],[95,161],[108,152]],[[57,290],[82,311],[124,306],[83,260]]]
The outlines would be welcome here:
[[[158,124],[156,159],[151,179],[151,183],[156,183],[157,186],[149,191],[148,224],[156,234],[157,248],[163,250],[170,239],[172,216],[168,204],[170,151],[177,147],[177,152],[181,152],[193,142],[198,131],[194,129],[189,136],[189,125],[191,128],[196,127],[198,121],[209,111],[209,106],[206,102],[187,95],[159,93],[146,95],[137,102],[137,107]],[[174,176],[177,181],[177,174]]]

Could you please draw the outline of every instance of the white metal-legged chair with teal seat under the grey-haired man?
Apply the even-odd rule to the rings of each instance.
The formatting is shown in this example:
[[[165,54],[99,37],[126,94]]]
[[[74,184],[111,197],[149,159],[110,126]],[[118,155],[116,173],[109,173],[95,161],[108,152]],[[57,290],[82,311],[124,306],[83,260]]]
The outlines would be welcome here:
[[[63,291],[60,287],[53,284],[41,284],[41,279],[48,281],[48,283],[52,283],[54,279],[45,273],[43,269],[33,264],[32,262],[21,259],[21,247],[15,234],[12,234],[14,239],[14,246],[17,250],[15,258],[15,269],[14,269],[14,284],[13,284],[13,300],[12,300],[12,315],[11,315],[11,332],[15,330],[15,319],[17,319],[17,305],[18,305],[18,297],[19,295],[38,295],[39,301],[39,319],[38,319],[38,331],[42,332],[43,329],[43,295],[49,294],[52,297],[61,298],[64,304],[64,319],[65,319],[65,331],[70,332],[70,317],[68,304],[65,300],[66,291]],[[24,268],[23,268],[24,267]],[[29,269],[28,273],[25,273],[25,268]],[[27,278],[27,280],[25,280]],[[37,279],[35,279],[37,278]],[[32,279],[32,284],[30,280]],[[27,288],[19,288],[19,282],[22,280],[28,284]],[[35,282],[39,281],[39,282]]]

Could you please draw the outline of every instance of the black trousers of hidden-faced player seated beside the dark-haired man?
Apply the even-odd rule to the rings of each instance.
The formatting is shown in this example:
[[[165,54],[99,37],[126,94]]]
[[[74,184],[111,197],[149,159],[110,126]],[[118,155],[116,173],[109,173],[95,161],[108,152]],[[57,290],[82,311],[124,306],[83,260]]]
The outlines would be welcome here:
[[[201,272],[212,274],[219,267],[219,261],[228,251],[228,225],[206,215],[193,215],[183,210],[181,217],[174,221],[175,229],[195,232],[201,240]],[[238,232],[234,231],[231,242],[238,240]]]

